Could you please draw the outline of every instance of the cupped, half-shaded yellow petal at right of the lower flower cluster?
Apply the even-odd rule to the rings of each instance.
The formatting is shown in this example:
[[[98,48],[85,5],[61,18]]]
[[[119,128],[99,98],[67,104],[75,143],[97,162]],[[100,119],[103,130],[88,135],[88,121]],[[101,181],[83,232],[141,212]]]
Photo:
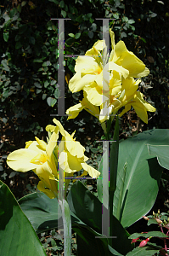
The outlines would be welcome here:
[[[67,173],[82,170],[82,164],[78,161],[77,157],[69,152],[61,152],[59,154],[59,166]]]

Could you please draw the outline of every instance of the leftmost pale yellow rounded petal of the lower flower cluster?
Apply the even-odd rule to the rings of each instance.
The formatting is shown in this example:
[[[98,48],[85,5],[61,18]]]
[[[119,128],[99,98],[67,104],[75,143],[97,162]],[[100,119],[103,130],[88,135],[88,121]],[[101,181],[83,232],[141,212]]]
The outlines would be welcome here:
[[[20,148],[14,150],[14,152],[8,154],[7,164],[8,166],[17,172],[28,172],[37,168],[37,164],[31,163],[31,160],[35,157],[36,152],[29,148]]]

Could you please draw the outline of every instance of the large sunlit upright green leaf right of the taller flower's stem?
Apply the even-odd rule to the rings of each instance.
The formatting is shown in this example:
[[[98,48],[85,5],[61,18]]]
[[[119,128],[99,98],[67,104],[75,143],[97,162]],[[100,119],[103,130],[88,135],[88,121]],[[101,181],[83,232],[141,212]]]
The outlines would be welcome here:
[[[147,144],[165,144],[168,137],[169,131],[157,129],[119,144],[113,210],[125,228],[146,215],[155,203],[163,168],[149,155]]]

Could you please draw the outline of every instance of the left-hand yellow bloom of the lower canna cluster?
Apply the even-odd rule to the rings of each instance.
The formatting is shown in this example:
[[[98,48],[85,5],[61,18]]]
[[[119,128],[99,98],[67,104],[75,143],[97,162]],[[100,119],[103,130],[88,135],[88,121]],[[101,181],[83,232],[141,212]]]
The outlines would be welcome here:
[[[58,194],[58,166],[53,154],[58,137],[59,129],[56,128],[48,144],[36,137],[36,141],[25,143],[25,148],[15,150],[7,158],[8,166],[14,171],[35,172],[40,178],[37,189],[50,198]]]

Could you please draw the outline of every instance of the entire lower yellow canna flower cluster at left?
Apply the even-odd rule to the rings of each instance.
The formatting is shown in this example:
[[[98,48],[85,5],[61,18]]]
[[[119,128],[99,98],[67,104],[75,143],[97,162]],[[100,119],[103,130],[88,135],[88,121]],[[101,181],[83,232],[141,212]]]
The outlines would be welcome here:
[[[7,164],[17,172],[33,171],[40,178],[37,189],[48,195],[49,198],[58,196],[58,165],[65,171],[65,177],[70,177],[74,172],[84,172],[91,177],[99,177],[100,172],[88,166],[85,148],[76,142],[75,131],[70,135],[57,119],[55,125],[47,125],[48,143],[36,138],[36,141],[25,143],[25,148],[15,150],[8,155]],[[58,145],[59,133],[62,140]]]

